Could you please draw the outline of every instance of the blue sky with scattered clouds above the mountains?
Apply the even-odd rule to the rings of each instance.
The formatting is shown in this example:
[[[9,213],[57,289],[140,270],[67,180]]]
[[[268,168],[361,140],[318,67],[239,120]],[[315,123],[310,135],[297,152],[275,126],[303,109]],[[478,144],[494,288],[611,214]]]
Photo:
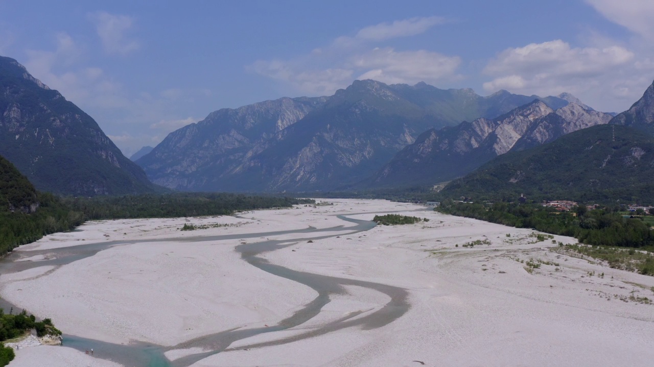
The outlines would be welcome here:
[[[0,55],[129,157],[220,108],[357,79],[621,112],[654,80],[652,19],[651,0],[0,0]]]

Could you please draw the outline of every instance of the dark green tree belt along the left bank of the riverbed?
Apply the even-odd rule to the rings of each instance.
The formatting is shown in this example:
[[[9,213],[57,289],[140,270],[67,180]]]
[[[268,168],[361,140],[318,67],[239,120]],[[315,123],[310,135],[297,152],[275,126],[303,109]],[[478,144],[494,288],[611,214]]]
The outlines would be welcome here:
[[[315,204],[311,199],[229,193],[167,193],[122,197],[57,197],[42,193],[0,157],[0,256],[84,221],[231,215],[241,210]]]

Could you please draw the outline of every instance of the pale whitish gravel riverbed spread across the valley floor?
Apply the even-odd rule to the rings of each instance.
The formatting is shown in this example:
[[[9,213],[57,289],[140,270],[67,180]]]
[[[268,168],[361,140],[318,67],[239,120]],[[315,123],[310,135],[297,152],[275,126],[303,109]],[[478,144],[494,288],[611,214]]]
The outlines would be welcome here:
[[[409,291],[411,308],[400,319],[371,330],[345,328],[282,345],[248,347],[315,330],[351,312],[364,317],[388,302],[384,294],[348,286],[347,294],[332,296],[332,302],[307,323],[239,340],[194,366],[421,365],[414,360],[431,366],[650,366],[654,359],[654,306],[633,300],[654,298],[654,277],[570,257],[551,239],[536,242],[530,230],[415,212],[422,207],[413,204],[325,201],[334,205],[262,210],[239,217],[99,221],[80,227],[81,232],[47,236],[17,251],[38,262],[43,257],[30,251],[107,238],[161,240],[351,227],[353,223],[335,215],[354,213],[351,217],[358,219],[373,217],[360,214],[366,212],[417,215],[430,221],[377,226],[357,234],[347,234],[345,228],[328,232],[332,238],[301,241],[264,255],[293,270],[403,287]],[[230,226],[181,232],[184,223]],[[264,238],[245,241],[258,240]],[[474,240],[485,243],[463,247]],[[576,242],[562,236],[553,240]],[[115,246],[58,268],[3,274],[0,295],[39,316],[52,317],[68,334],[169,346],[228,328],[274,325],[315,297],[315,291],[304,285],[245,263],[234,251],[241,242],[169,240]],[[529,261],[540,261],[540,267],[528,272]],[[39,365],[38,359],[46,361],[49,355],[88,357],[72,349],[45,348],[18,351],[20,358],[12,366]],[[178,359],[198,351],[178,349],[166,355]]]

